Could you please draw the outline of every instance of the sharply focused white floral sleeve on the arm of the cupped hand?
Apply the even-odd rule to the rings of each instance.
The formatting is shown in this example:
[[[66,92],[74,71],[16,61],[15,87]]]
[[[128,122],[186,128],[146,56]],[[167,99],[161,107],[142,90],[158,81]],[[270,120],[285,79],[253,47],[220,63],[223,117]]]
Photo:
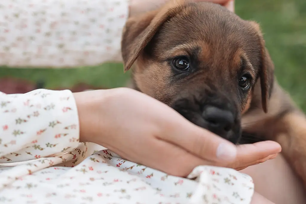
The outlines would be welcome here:
[[[78,146],[79,132],[71,91],[0,92],[0,163],[63,154]]]

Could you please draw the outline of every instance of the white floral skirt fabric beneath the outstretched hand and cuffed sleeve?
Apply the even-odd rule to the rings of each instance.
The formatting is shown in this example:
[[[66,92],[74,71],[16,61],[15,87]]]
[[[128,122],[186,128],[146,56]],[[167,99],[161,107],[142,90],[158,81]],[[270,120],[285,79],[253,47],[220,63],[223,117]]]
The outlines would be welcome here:
[[[193,180],[95,148],[102,149],[80,143],[60,156],[0,165],[2,203],[247,204],[252,199],[251,177],[230,168],[199,166],[190,175],[197,177]]]

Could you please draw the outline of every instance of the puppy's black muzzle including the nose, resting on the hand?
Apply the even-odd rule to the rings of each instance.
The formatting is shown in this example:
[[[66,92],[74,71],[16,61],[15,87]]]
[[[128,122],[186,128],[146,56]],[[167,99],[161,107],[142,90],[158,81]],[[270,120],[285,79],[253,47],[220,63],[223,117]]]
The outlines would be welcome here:
[[[241,137],[240,115],[236,103],[220,94],[204,96],[203,100],[180,98],[170,107],[190,122],[236,144]]]

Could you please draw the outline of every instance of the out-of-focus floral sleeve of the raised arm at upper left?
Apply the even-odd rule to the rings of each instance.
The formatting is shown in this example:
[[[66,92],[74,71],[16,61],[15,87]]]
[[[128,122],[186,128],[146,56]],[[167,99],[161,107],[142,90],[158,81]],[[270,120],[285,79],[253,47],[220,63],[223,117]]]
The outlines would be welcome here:
[[[128,0],[3,0],[0,66],[77,67],[120,61]]]

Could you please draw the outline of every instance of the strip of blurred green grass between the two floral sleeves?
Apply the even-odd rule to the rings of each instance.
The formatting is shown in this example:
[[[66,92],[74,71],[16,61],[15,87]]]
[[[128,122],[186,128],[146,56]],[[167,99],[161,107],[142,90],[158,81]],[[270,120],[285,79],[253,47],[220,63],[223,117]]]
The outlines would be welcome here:
[[[115,88],[125,85],[129,73],[123,73],[121,63],[105,63],[94,67],[79,67],[73,69],[28,69],[0,67],[0,77],[13,76],[36,82],[43,80],[46,88],[71,87],[84,82],[94,86]]]

